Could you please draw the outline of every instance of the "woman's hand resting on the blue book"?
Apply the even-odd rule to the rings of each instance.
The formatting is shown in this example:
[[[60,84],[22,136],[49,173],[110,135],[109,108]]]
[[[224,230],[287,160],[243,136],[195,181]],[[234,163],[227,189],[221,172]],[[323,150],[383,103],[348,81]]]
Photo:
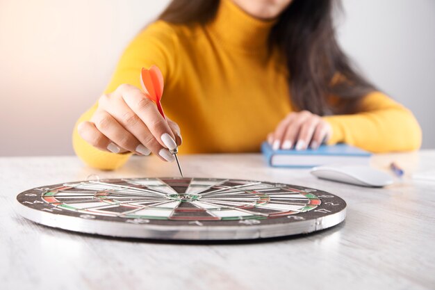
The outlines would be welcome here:
[[[309,111],[290,113],[282,120],[277,129],[268,135],[268,143],[273,150],[316,149],[327,141],[332,134],[331,126],[319,115]]]

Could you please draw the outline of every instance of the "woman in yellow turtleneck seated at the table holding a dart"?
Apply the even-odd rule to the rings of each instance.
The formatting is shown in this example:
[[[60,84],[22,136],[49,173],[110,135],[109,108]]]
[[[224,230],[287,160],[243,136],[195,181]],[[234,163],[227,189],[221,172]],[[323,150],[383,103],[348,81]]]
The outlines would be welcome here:
[[[416,150],[412,113],[377,91],[340,50],[333,0],[174,0],[126,48],[104,95],[74,129],[76,154],[114,169],[130,153],[303,150],[322,142]],[[163,72],[167,120],[140,88]],[[173,121],[172,121],[173,120]]]

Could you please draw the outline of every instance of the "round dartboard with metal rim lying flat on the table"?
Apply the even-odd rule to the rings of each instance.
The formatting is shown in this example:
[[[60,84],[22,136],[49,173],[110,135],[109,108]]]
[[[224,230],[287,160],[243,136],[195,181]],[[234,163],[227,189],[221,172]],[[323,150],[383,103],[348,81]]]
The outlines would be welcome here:
[[[260,239],[315,232],[346,203],[313,188],[211,178],[72,182],[17,195],[19,213],[61,229],[143,239]]]

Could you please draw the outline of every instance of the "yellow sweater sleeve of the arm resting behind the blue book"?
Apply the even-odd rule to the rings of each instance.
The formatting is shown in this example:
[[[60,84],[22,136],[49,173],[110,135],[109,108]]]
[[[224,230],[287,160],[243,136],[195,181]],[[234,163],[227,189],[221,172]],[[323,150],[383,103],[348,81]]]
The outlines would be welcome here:
[[[361,100],[353,115],[323,117],[332,128],[328,144],[347,143],[375,153],[418,150],[422,131],[413,113],[381,92]]]

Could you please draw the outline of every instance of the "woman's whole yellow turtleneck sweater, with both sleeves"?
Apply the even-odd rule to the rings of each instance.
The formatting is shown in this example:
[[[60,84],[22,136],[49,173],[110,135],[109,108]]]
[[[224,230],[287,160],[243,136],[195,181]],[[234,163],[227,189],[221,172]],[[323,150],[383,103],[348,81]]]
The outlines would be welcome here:
[[[105,92],[122,83],[140,88],[140,69],[163,72],[162,105],[181,127],[181,154],[258,152],[265,136],[288,113],[286,67],[279,54],[268,56],[274,22],[255,19],[231,0],[222,0],[206,26],[157,21],[126,48]],[[89,120],[97,104],[77,124]],[[381,92],[364,97],[361,113],[327,116],[329,144],[345,142],[372,152],[416,150],[421,131],[412,113]],[[101,169],[121,166],[129,154],[102,152],[73,134],[76,154]]]

